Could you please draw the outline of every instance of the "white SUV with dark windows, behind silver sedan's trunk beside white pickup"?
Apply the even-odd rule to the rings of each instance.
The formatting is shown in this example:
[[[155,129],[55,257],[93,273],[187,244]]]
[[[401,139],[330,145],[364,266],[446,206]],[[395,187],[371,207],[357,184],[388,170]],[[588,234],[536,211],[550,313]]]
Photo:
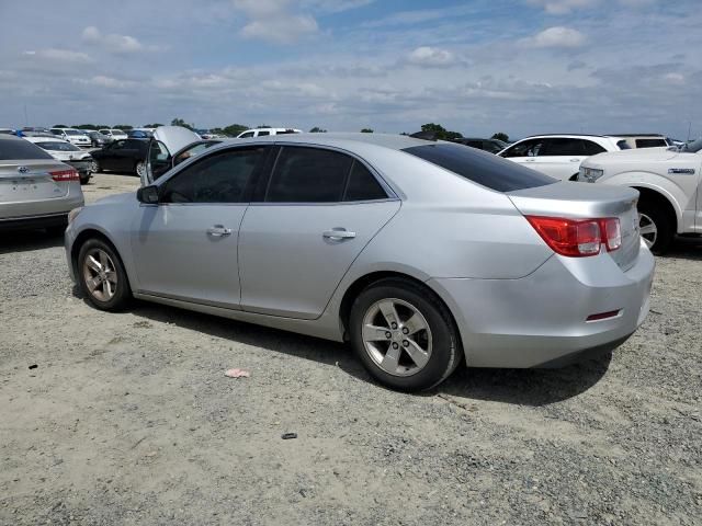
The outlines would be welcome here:
[[[535,135],[518,140],[498,156],[562,181],[578,179],[580,163],[590,156],[627,149],[621,137],[603,135]]]

